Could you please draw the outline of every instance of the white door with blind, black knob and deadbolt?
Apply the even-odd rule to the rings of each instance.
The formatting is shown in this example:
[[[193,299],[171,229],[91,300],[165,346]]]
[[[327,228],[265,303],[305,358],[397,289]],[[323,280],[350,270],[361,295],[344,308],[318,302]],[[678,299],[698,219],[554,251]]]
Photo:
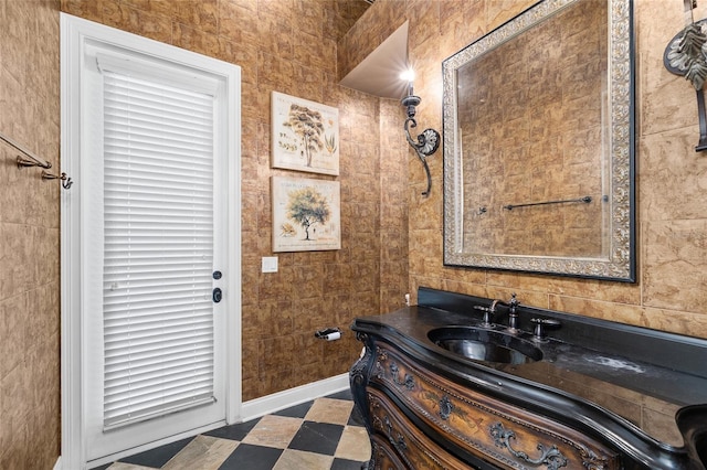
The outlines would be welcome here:
[[[221,426],[240,397],[225,345],[240,311],[233,84],[115,34],[73,57],[82,464]]]

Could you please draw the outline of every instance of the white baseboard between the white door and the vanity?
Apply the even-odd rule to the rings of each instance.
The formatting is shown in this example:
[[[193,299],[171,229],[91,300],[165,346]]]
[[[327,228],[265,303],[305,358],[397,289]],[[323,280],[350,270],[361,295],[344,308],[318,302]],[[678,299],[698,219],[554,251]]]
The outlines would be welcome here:
[[[310,384],[300,385],[272,395],[244,402],[241,406],[241,420],[243,423],[261,416],[278,412],[310,399],[341,392],[349,388],[349,374],[335,375],[334,377]]]

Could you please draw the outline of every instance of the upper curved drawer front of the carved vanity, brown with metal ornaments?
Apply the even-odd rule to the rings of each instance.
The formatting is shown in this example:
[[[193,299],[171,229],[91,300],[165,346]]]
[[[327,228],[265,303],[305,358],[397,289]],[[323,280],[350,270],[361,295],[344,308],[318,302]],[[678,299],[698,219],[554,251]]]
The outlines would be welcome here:
[[[500,468],[621,468],[616,452],[581,432],[421,368],[387,343],[378,342],[376,354],[371,383],[443,439]]]

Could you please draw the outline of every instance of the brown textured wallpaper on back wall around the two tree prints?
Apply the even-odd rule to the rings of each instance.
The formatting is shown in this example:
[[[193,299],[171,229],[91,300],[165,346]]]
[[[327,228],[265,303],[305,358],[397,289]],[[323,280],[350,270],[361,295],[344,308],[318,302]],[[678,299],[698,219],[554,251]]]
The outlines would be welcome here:
[[[354,318],[378,313],[381,306],[400,307],[407,292],[407,211],[400,204],[404,160],[380,160],[381,141],[388,138],[381,136],[381,120],[391,120],[387,118],[391,111],[376,97],[337,85],[337,40],[361,14],[357,3],[62,1],[67,13],[242,67],[244,400],[346,373],[360,351],[348,330]],[[271,168],[273,90],[338,107],[339,177]],[[340,250],[279,253],[278,273],[261,273],[261,257],[273,255],[272,175],[340,182]],[[390,190],[384,196],[382,184]],[[389,203],[386,210],[383,199]],[[384,289],[381,278],[387,280]],[[326,342],[314,337],[327,327],[341,328],[342,339]]]

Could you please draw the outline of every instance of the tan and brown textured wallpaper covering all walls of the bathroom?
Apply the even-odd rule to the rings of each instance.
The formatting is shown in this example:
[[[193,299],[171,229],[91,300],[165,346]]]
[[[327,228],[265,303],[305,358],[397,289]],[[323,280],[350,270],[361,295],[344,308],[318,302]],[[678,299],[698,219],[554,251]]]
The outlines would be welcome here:
[[[0,131],[60,168],[60,11],[242,67],[243,403],[347,374],[361,348],[352,320],[395,310],[407,293],[415,303],[420,286],[485,298],[516,292],[529,306],[707,338],[707,161],[694,150],[695,94],[663,65],[684,24],[683,2],[634,2],[636,282],[445,267],[442,152],[429,159],[432,191],[421,196],[426,179],[404,140],[400,102],[338,85],[409,21],[418,119],[441,129],[442,61],[534,1],[379,0],[362,15],[354,3],[1,0]],[[695,18],[707,17],[697,3]],[[267,274],[273,90],[339,109],[342,234],[341,249],[279,253],[278,271]],[[11,147],[0,152],[0,468],[60,468],[64,190],[36,169],[18,170]],[[313,334],[335,325],[339,341]]]

